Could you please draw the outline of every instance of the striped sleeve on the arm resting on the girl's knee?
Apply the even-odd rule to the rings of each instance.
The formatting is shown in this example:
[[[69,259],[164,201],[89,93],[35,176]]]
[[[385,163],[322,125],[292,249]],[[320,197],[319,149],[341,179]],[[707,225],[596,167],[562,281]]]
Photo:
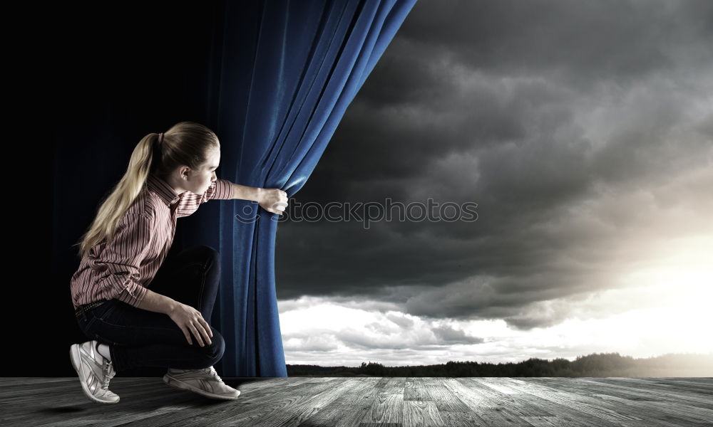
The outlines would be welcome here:
[[[111,241],[94,262],[97,283],[109,288],[112,297],[137,307],[146,295],[140,285],[140,265],[150,250],[153,221],[143,214],[125,214]]]

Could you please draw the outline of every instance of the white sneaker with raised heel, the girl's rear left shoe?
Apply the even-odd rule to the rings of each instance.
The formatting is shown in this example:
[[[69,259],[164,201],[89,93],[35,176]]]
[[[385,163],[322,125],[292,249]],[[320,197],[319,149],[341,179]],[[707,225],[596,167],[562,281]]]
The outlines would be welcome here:
[[[114,365],[96,351],[96,339],[72,344],[69,355],[77,371],[82,391],[98,404],[116,404],[119,396],[109,391],[109,381],[116,375]]]

